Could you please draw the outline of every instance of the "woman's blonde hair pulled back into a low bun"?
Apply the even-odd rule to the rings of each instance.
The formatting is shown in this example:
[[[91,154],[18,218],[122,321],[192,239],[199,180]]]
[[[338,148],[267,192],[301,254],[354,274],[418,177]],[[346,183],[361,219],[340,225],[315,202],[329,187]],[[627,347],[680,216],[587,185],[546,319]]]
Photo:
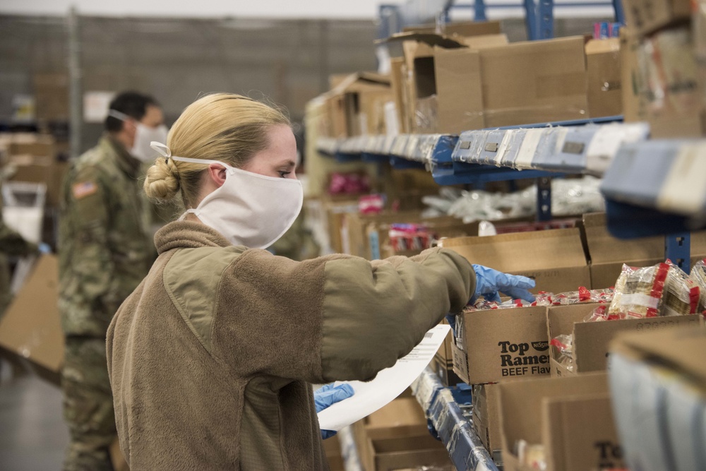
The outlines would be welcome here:
[[[172,155],[220,160],[241,168],[268,147],[270,126],[289,119],[279,109],[233,93],[214,93],[191,103],[169,130]],[[172,201],[181,191],[184,207],[196,203],[206,165],[158,158],[147,171],[145,193],[157,201]]]

